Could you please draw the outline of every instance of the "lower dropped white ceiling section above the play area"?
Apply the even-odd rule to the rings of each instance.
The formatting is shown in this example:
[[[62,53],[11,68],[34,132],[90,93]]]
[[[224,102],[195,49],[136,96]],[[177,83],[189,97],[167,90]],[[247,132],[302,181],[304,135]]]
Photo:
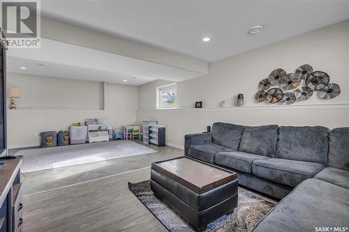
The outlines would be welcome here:
[[[8,72],[130,85],[156,79],[181,82],[202,76],[198,72],[46,38],[41,38],[40,49],[9,49]]]

